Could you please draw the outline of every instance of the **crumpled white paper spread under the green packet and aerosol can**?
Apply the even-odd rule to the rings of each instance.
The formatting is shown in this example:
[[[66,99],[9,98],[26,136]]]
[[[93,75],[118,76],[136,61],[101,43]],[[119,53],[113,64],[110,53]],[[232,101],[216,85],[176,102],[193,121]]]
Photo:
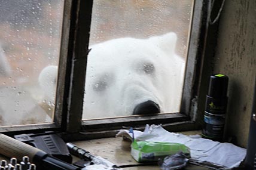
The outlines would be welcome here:
[[[137,141],[159,141],[181,143],[190,148],[190,162],[208,168],[231,169],[245,159],[246,149],[231,143],[220,143],[200,137],[168,132],[160,125],[146,125],[144,132],[133,131]],[[127,130],[120,130],[117,136],[132,138]]]

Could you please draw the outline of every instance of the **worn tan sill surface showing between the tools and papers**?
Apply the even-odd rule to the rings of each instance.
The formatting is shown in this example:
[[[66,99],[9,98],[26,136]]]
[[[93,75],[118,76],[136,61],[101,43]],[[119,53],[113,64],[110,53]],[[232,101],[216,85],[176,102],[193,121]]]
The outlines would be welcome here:
[[[182,134],[200,134],[201,131],[187,131],[182,132]],[[77,146],[87,150],[95,156],[101,156],[118,166],[128,166],[123,168],[124,170],[133,169],[160,169],[158,165],[148,165],[136,162],[130,155],[130,144],[131,141],[123,140],[121,137],[116,138],[100,138],[96,140],[86,140],[86,141],[75,141],[72,142]],[[79,160],[75,157],[74,161]],[[129,167],[130,166],[130,167]],[[185,169],[209,169],[203,168],[196,165],[187,164]]]

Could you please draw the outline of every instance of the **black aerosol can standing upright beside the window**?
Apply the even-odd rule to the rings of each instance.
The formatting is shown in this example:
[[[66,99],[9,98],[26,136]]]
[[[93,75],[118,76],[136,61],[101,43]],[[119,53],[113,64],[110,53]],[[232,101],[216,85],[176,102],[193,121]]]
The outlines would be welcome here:
[[[206,95],[205,115],[202,136],[214,141],[223,140],[225,113],[227,110],[228,77],[222,74],[211,75]]]

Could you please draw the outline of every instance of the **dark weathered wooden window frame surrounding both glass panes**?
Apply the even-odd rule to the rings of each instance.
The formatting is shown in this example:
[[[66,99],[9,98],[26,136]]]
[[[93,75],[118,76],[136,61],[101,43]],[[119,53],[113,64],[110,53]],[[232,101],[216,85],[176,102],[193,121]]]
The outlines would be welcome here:
[[[161,124],[167,130],[199,129],[197,96],[202,76],[210,2],[195,0],[180,113],[81,121],[93,0],[66,0],[63,13],[54,123],[1,127],[5,134],[57,131],[76,139],[112,137],[118,129]],[[132,122],[132,124],[130,123]],[[108,130],[106,130],[108,129]],[[78,135],[77,135],[78,134]]]

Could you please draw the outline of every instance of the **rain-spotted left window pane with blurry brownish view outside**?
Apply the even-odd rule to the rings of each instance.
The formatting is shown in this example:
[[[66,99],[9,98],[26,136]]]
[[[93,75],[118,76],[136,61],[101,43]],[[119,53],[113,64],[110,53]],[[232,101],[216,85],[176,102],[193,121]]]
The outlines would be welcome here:
[[[53,122],[63,1],[1,0],[0,126]],[[53,78],[53,79],[51,79]]]

